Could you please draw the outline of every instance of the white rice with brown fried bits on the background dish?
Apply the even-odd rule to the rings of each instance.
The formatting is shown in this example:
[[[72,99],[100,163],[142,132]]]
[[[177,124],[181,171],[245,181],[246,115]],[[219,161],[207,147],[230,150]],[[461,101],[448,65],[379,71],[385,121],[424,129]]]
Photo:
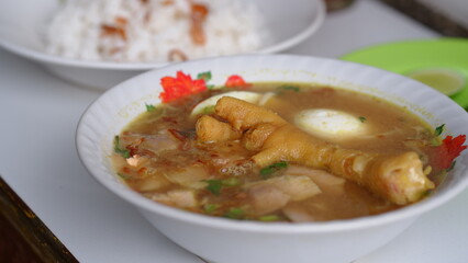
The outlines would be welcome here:
[[[45,49],[85,60],[165,62],[171,50],[193,59],[250,53],[263,44],[254,5],[235,0],[196,2],[209,9],[203,45],[193,44],[189,33],[189,0],[67,0],[51,21]],[[103,34],[102,25],[120,26],[125,37]]]

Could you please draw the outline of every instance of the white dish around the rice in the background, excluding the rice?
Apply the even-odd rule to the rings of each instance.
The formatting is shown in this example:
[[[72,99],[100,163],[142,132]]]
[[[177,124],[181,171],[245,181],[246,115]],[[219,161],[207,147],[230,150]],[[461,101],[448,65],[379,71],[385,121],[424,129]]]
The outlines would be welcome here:
[[[322,0],[238,0],[257,5],[269,42],[259,54],[288,49],[310,37],[325,16]],[[156,62],[104,62],[67,59],[44,53],[44,32],[58,0],[5,1],[0,8],[0,46],[45,66],[55,76],[87,87],[109,89],[143,71],[165,66]]]

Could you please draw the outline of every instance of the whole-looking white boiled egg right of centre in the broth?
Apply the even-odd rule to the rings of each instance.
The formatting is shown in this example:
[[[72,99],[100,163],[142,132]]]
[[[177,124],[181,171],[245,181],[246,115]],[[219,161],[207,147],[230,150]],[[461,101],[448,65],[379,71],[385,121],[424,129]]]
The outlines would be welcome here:
[[[364,117],[328,108],[301,111],[296,115],[294,123],[311,135],[331,140],[346,139],[366,133]]]

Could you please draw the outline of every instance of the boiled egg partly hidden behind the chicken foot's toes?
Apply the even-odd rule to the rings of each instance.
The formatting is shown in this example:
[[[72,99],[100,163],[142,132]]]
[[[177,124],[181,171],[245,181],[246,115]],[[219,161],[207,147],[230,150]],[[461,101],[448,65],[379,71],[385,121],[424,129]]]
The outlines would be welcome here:
[[[261,98],[261,94],[252,91],[230,91],[226,93],[210,96],[207,100],[197,104],[197,106],[193,107],[191,115],[194,116],[199,114],[212,113],[214,111],[214,105],[216,105],[218,100],[223,96],[232,96],[249,103],[257,104]]]

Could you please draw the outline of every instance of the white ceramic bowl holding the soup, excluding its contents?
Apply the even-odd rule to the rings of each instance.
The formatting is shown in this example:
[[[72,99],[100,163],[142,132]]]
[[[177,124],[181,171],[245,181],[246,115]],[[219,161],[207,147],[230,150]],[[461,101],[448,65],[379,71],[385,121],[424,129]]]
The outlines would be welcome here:
[[[114,135],[145,111],[145,103],[159,103],[159,79],[175,76],[177,70],[191,76],[211,70],[215,84],[238,73],[249,82],[300,81],[357,90],[406,106],[434,127],[445,123],[446,134],[452,135],[468,134],[468,114],[448,98],[400,75],[353,62],[288,55],[193,60],[143,73],[107,91],[80,119],[76,144],[82,163],[94,179],[135,206],[160,232],[209,261],[349,263],[386,244],[420,215],[453,198],[468,184],[468,160],[463,155],[431,197],[378,216],[266,224],[208,217],[157,204],[125,186],[112,172],[108,156]]]

